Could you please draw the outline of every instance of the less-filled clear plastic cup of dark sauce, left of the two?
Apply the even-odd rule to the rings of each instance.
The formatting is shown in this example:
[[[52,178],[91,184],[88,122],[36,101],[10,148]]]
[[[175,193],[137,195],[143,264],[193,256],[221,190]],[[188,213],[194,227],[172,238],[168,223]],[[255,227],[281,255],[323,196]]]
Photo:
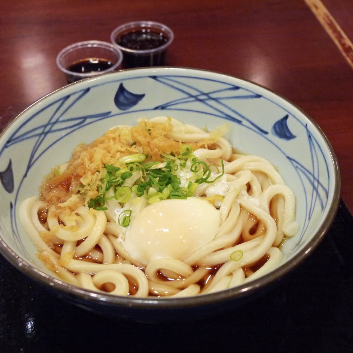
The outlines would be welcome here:
[[[84,41],[61,50],[56,65],[68,83],[121,68],[122,52],[111,43]]]

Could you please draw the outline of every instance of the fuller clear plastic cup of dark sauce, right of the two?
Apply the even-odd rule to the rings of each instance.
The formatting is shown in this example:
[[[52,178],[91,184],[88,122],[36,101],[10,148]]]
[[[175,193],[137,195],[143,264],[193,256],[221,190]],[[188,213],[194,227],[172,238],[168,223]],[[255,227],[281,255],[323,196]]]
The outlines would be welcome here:
[[[128,22],[110,35],[110,41],[124,53],[124,68],[163,65],[173,39],[169,27],[153,21]]]

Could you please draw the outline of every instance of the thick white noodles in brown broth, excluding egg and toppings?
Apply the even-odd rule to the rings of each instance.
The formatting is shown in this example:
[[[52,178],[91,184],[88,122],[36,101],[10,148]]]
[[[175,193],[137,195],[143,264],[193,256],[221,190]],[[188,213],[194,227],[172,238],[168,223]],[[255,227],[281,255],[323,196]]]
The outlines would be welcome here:
[[[165,122],[166,119],[160,116],[150,121]],[[197,143],[212,137],[212,133],[199,127],[175,119],[171,119],[171,123],[173,132],[166,136],[176,141]],[[91,291],[106,293],[104,284],[110,283],[110,287],[106,286],[107,290],[110,288],[110,294],[132,295],[129,293],[130,283],[137,287],[134,294],[137,297],[149,294],[187,297],[252,281],[281,264],[283,254],[276,246],[285,236],[293,237],[298,232],[295,197],[273,164],[265,158],[233,153],[231,144],[224,137],[219,138],[214,146],[213,150],[200,148],[194,155],[218,169],[223,161],[225,175],[215,183],[198,185],[194,195],[212,199],[209,195],[219,198],[222,194],[221,201],[214,201],[219,209],[220,227],[213,240],[183,261],[161,258],[144,265],[124,249],[127,228],[117,221],[120,212],[130,209],[130,222],[133,222],[148,206],[145,196],[137,197],[133,192],[124,205],[112,198],[105,204],[106,211],[81,206],[70,215],[60,214],[54,207],[31,197],[20,206],[21,222],[48,268],[60,278]],[[159,163],[154,168],[163,166],[165,163]],[[213,179],[219,175],[215,170],[212,169]],[[131,188],[141,177],[140,171],[134,171],[124,186]],[[105,196],[114,196],[113,188]],[[38,211],[43,208],[48,208],[49,231],[38,219]],[[60,246],[59,255],[53,249],[60,249]],[[232,255],[238,255],[238,258],[232,259]],[[266,256],[268,261],[252,273],[252,266]],[[78,259],[82,257],[88,257],[87,261]]]

